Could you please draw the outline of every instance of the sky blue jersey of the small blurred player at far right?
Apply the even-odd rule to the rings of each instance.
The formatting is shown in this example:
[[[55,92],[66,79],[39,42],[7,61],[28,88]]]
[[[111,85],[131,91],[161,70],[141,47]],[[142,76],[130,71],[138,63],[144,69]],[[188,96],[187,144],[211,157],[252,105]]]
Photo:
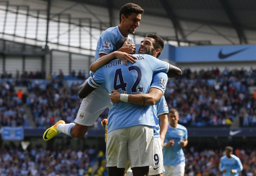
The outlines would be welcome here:
[[[226,169],[226,172],[223,172],[223,170]],[[236,173],[232,174],[230,172],[231,169],[235,169]],[[243,170],[243,165],[240,161],[240,159],[232,155],[231,158],[227,158],[227,156],[222,156],[220,159],[220,171],[223,172],[223,176],[239,176],[239,172]]]

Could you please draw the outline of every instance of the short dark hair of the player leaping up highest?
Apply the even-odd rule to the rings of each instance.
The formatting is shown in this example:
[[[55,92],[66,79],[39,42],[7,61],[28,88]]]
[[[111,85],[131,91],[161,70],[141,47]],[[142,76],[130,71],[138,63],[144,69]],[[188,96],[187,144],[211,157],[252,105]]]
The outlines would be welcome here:
[[[137,4],[134,3],[127,3],[124,6],[121,7],[119,11],[119,23],[121,23],[121,15],[124,14],[127,18],[132,13],[136,14],[142,14],[144,13],[144,10]]]

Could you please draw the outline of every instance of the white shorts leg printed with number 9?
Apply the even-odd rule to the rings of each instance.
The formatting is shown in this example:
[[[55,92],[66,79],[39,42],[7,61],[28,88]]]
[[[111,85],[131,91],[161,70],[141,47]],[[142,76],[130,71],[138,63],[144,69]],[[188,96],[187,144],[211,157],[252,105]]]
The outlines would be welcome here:
[[[154,161],[155,165],[150,166],[149,175],[150,176],[162,176],[164,170],[164,158],[161,146],[160,137],[154,138]]]

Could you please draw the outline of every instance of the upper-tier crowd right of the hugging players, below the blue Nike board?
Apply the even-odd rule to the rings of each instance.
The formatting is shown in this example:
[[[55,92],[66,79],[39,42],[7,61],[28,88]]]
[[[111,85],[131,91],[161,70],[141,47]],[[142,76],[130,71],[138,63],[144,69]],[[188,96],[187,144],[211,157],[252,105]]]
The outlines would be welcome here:
[[[249,86],[256,86],[256,70],[219,69],[191,72],[169,80],[165,99],[177,108],[184,126],[231,125],[240,114],[241,126],[256,125],[256,96]]]

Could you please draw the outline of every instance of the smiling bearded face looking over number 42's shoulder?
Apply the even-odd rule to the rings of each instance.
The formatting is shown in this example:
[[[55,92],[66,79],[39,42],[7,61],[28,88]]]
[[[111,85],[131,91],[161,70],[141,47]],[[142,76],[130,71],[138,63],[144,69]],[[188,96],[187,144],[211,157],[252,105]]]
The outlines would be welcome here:
[[[148,54],[151,56],[154,56],[154,38],[146,37],[141,41],[140,48],[139,48],[139,54]]]

